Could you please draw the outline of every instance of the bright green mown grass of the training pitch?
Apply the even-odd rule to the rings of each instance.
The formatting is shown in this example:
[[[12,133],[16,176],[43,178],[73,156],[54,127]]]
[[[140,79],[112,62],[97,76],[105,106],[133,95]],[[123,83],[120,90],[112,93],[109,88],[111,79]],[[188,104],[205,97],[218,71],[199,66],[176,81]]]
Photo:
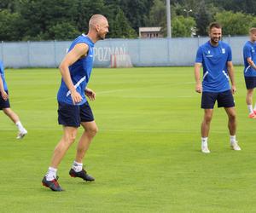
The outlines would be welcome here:
[[[11,106],[28,130],[0,114],[2,212],[255,212],[255,121],[247,118],[242,67],[236,67],[237,137],[231,151],[227,117],[215,108],[209,146],[200,152],[201,95],[193,67],[94,69],[90,103],[100,129],[84,164],[96,177],[68,176],[76,144],[58,170],[61,187],[41,186],[61,138],[56,69],[7,70]],[[81,132],[79,131],[79,135]]]

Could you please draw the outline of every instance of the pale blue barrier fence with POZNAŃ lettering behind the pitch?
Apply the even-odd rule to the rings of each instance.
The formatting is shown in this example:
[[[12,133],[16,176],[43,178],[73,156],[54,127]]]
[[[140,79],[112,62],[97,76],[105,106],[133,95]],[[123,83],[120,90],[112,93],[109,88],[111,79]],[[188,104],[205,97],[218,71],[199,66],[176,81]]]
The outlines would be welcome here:
[[[154,39],[106,39],[95,45],[94,66],[110,67],[111,55],[130,55],[133,66],[191,66],[197,48],[208,37]],[[230,43],[233,62],[241,65],[242,48],[248,37],[224,37]],[[71,41],[2,42],[0,57],[8,67],[57,67]]]

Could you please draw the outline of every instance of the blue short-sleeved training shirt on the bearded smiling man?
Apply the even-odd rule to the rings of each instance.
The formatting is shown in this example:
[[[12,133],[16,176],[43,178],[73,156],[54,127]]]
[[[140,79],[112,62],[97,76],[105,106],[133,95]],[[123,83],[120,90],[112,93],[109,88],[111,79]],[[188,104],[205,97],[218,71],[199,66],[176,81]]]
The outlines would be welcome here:
[[[203,92],[224,92],[230,89],[227,62],[232,60],[230,45],[222,41],[212,46],[210,41],[199,47],[195,63],[203,66]]]

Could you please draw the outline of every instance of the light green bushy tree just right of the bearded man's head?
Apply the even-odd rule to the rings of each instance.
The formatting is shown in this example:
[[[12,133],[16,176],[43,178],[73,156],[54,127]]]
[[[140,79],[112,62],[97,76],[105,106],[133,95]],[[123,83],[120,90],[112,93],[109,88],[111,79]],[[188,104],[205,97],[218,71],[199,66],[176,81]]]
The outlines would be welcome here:
[[[224,35],[246,35],[255,20],[250,14],[232,11],[218,13],[214,18],[223,26]]]

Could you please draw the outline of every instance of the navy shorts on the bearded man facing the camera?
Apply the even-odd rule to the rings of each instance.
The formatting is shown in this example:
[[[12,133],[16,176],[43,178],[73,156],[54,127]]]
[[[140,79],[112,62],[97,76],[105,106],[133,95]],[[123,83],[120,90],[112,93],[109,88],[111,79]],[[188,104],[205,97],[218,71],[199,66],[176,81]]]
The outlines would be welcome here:
[[[201,95],[201,108],[213,109],[216,101],[218,101],[218,107],[235,107],[234,97],[229,89],[219,93],[203,92]]]

